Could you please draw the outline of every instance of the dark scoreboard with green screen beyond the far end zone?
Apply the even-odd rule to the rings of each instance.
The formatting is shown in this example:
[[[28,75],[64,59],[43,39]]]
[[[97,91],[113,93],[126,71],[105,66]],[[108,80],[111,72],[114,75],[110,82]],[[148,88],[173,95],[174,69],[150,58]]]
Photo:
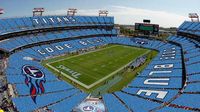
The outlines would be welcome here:
[[[135,30],[139,32],[144,32],[148,34],[158,34],[159,25],[158,24],[145,24],[145,23],[135,23]]]

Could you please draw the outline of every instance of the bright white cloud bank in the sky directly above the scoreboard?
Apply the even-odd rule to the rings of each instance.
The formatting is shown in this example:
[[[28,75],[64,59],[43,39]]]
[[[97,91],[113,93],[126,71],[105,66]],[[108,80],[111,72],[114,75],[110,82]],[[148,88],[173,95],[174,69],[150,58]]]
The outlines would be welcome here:
[[[112,6],[111,15],[115,16],[116,23],[134,24],[142,22],[143,19],[150,19],[152,23],[164,27],[178,27],[187,18],[182,15],[165,11],[154,11],[124,6]]]

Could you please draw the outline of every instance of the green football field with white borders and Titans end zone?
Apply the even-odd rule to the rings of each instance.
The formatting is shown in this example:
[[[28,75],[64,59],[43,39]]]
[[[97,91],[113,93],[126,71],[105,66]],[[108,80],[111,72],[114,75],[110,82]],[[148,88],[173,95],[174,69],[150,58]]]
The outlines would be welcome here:
[[[109,45],[88,53],[47,60],[46,66],[58,75],[89,89],[120,71],[135,58],[149,50]]]

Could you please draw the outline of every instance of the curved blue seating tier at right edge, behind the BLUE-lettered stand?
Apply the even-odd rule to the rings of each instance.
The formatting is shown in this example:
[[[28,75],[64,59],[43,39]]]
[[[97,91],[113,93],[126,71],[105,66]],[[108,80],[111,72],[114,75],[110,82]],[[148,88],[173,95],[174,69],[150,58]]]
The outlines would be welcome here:
[[[200,48],[198,47],[199,42],[195,40],[182,37],[182,36],[171,36],[168,38],[171,41],[180,43],[185,58],[186,67],[186,87],[183,94],[175,100],[173,103],[190,106],[193,108],[199,108],[199,92],[200,92]],[[187,99],[187,101],[186,101]]]

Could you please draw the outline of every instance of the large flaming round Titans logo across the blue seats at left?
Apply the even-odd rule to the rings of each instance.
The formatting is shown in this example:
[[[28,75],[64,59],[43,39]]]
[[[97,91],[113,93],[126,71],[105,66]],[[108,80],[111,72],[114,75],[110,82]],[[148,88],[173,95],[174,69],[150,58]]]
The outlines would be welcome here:
[[[43,86],[43,83],[46,82],[45,75],[41,70],[30,65],[24,65],[22,72],[25,76],[25,84],[30,88],[30,96],[36,103],[37,95],[45,92]]]

